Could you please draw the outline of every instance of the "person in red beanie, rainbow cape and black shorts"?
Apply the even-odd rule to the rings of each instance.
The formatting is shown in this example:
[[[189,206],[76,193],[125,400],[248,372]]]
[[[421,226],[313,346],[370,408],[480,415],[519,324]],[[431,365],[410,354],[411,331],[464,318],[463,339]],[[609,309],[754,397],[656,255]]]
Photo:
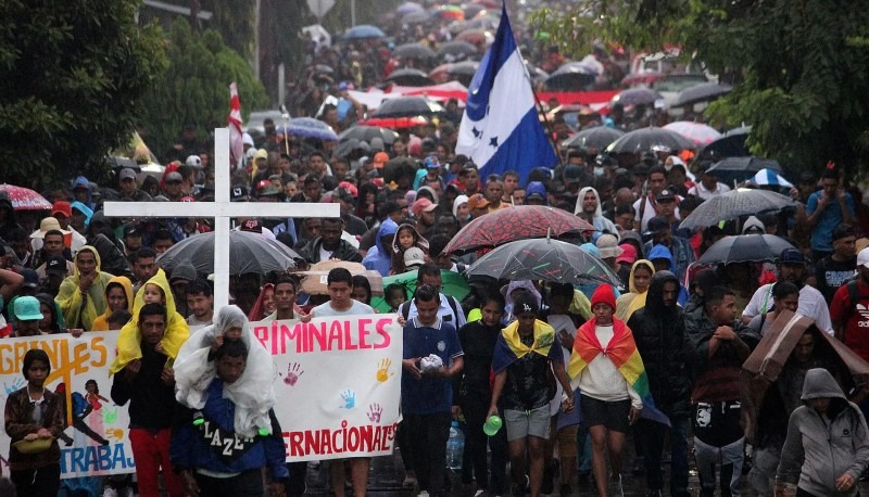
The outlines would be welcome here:
[[[616,297],[608,284],[597,286],[591,310],[594,317],[577,330],[567,372],[572,386],[580,391],[582,422],[591,435],[597,495],[609,495],[610,481],[612,495],[624,495],[620,473],[625,437],[630,425],[640,419],[643,396],[648,396],[648,380],[631,330],[613,317]],[[612,477],[606,472],[607,448]]]

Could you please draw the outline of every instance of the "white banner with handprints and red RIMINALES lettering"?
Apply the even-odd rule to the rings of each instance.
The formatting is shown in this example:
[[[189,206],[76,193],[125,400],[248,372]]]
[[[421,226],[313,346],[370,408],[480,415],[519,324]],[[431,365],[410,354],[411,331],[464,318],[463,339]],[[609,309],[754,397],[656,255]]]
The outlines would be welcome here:
[[[400,420],[398,315],[253,322],[272,354],[287,461],[392,454]]]

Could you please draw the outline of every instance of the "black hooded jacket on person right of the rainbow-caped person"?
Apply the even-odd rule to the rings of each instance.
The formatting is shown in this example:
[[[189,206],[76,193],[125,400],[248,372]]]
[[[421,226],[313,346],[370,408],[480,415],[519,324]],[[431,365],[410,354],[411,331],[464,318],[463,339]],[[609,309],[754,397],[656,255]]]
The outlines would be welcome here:
[[[645,307],[633,313],[628,328],[643,358],[648,387],[655,405],[669,415],[687,416],[690,409],[691,381],[684,353],[683,311],[678,304],[664,305],[664,283],[679,279],[670,271],[652,278]]]

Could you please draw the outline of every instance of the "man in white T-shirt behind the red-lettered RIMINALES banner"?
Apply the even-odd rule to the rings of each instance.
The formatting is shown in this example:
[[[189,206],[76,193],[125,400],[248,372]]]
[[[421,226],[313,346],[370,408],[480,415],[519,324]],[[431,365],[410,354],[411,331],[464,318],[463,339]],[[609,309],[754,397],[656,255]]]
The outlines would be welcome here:
[[[344,268],[335,268],[326,277],[326,289],[329,291],[329,302],[320,304],[307,317],[331,318],[340,316],[356,316],[374,314],[374,309],[350,297],[353,292],[353,276]],[[349,459],[351,481],[354,497],[365,497],[368,487],[368,468],[370,459],[361,457]],[[335,497],[344,497],[344,459],[333,459],[330,462],[331,490]]]

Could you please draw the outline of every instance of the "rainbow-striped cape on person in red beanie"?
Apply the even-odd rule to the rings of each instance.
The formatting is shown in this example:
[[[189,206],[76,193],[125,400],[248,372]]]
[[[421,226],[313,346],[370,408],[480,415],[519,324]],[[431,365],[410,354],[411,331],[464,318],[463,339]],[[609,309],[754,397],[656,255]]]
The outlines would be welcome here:
[[[616,365],[618,371],[625,377],[628,384],[640,395],[643,400],[642,418],[657,421],[670,425],[670,420],[664,412],[655,407],[652,392],[648,390],[648,378],[645,374],[643,359],[637,349],[633,341],[633,333],[625,321],[613,318],[613,340],[606,345],[601,346],[597,335],[594,333],[594,318],[589,319],[577,330],[577,337],[574,340],[574,352],[570,354],[570,362],[567,365],[567,374],[570,377],[570,385],[579,387],[579,375],[599,354],[603,354]]]

